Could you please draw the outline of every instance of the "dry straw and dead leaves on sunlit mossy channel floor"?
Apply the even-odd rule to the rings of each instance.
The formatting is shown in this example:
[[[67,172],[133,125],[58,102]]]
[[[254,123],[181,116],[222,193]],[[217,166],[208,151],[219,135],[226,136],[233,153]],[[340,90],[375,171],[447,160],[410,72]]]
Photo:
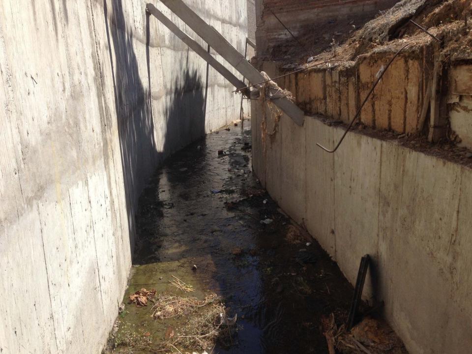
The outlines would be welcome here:
[[[193,287],[177,277],[171,285],[183,293],[193,292]],[[165,320],[176,320],[177,328],[166,331],[165,340],[153,338],[156,326],[137,326],[118,320],[120,329],[111,335],[104,353],[192,353],[211,350],[218,343],[224,347],[233,344],[236,324],[228,325],[226,308],[217,295],[207,295],[203,300],[178,295],[156,295],[155,290],[141,289],[129,296],[129,302],[145,307],[152,302],[151,317],[166,327]],[[155,323],[154,322],[154,323]],[[154,343],[155,342],[158,343]]]

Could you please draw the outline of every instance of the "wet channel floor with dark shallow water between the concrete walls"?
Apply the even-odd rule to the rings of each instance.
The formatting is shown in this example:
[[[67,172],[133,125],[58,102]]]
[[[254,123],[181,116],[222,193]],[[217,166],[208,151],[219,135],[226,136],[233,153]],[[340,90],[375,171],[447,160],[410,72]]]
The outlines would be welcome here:
[[[253,176],[248,125],[239,122],[181,150],[149,181],[125,306],[105,353],[328,353],[322,319],[346,321],[353,287]],[[155,290],[147,306],[129,303],[143,288]],[[185,307],[210,294],[226,308],[208,297],[206,306]],[[160,301],[167,305],[153,308]],[[192,322],[206,308],[207,323]],[[221,322],[225,310],[237,320],[217,328],[224,333],[189,331]]]

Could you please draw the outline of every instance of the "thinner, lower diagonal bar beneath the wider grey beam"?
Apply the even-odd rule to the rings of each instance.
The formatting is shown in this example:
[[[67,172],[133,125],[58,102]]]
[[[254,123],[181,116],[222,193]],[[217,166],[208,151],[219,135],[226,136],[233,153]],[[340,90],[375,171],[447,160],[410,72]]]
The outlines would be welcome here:
[[[186,33],[181,31],[170,19],[168,19],[161,11],[159,11],[153,4],[148,4],[146,10],[156,19],[158,19],[164,26],[170,29],[178,38],[188,45],[195,53],[205,59],[217,72],[226,78],[235,87],[244,89],[246,84],[239,80],[235,75],[225,68],[218,60],[214,59],[200,44],[190,38]],[[249,97],[249,89],[243,92]]]

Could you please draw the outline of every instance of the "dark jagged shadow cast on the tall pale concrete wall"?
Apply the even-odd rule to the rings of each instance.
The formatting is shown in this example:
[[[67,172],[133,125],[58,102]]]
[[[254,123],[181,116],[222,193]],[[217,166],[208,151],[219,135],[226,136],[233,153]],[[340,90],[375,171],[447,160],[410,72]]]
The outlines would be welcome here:
[[[130,246],[134,249],[136,235],[136,211],[138,198],[154,170],[167,156],[205,134],[205,110],[207,96],[199,72],[186,66],[175,78],[175,89],[164,116],[154,116],[151,97],[151,71],[149,43],[149,16],[146,16],[146,59],[148,65],[148,87],[145,88],[139,75],[139,63],[133,49],[133,33],[126,28],[122,0],[103,0],[104,19],[107,31],[110,64],[113,73],[115,106],[118,119],[118,134],[121,163],[128,215]],[[113,58],[115,57],[115,61]],[[163,68],[171,70],[173,68]],[[207,70],[208,71],[208,70]],[[159,83],[163,85],[164,83]],[[157,90],[157,88],[154,88]],[[165,119],[165,143],[159,151],[155,140],[154,119]]]

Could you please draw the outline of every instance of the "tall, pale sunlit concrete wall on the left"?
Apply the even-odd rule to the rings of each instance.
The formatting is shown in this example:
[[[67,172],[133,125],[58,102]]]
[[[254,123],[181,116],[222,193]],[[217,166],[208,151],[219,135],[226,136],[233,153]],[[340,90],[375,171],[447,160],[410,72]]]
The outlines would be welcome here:
[[[186,2],[244,52],[246,0]],[[146,180],[239,117],[231,85],[145,8],[0,2],[2,354],[98,353],[126,286]]]

